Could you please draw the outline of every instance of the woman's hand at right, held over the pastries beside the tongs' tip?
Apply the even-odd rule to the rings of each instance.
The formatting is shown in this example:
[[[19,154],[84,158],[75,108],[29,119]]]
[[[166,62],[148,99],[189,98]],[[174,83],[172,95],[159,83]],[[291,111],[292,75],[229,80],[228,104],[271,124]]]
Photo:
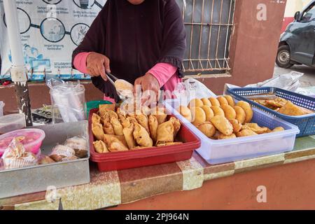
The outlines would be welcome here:
[[[137,80],[134,82],[134,88],[134,92],[136,92],[136,94],[139,89],[142,90],[141,98],[143,103],[153,103],[158,101],[160,83],[158,82],[158,79],[156,79],[151,73],[146,73],[145,76],[137,78]]]

